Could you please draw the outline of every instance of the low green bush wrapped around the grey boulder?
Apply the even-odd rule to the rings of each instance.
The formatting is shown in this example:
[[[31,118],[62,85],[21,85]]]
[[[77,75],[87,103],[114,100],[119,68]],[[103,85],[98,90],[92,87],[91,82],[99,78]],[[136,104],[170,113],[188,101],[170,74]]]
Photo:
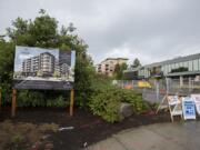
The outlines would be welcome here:
[[[89,108],[93,114],[102,117],[108,122],[118,121],[120,119],[118,112],[121,102],[131,103],[134,113],[141,113],[148,109],[141,93],[120,89],[111,86],[108,80],[96,78],[89,101]]]

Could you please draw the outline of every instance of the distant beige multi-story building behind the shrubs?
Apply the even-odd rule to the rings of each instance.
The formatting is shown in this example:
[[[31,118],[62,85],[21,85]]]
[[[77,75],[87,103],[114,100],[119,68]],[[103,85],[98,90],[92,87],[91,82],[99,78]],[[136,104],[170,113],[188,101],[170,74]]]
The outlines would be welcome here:
[[[97,66],[97,72],[111,77],[116,70],[116,66],[127,63],[127,58],[107,58]]]

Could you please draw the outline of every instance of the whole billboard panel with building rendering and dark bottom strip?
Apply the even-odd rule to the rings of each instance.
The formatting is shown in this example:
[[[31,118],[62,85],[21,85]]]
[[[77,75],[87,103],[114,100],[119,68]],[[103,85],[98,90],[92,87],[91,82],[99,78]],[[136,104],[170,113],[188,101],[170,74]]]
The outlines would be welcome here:
[[[16,47],[16,89],[72,89],[74,51]]]

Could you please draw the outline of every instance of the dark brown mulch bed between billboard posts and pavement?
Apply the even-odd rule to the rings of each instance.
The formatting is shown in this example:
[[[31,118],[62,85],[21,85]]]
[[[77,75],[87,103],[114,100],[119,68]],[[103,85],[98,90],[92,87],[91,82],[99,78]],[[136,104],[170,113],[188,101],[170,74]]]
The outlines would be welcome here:
[[[51,133],[49,138],[56,150],[78,150],[118,133],[121,130],[147,126],[152,123],[170,122],[167,112],[154,114],[153,111],[143,114],[133,114],[122,122],[108,123],[90,111],[76,109],[70,117],[67,109],[50,108],[23,108],[18,109],[14,118],[10,117],[10,110],[0,112],[0,122],[11,119],[13,122],[57,123],[60,127],[73,127],[70,130]]]

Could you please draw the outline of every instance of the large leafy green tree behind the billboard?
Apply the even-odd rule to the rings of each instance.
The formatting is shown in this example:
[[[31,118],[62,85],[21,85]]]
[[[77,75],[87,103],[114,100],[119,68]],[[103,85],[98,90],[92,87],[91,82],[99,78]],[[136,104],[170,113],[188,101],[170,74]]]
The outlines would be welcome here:
[[[12,87],[16,44],[76,50],[76,101],[77,104],[83,106],[83,100],[87,101],[87,97],[83,99],[81,96],[89,91],[91,84],[90,78],[94,73],[92,60],[87,54],[88,46],[82,42],[78,34],[68,34],[67,29],[62,26],[61,30],[59,30],[57,19],[50,17],[44,10],[40,10],[39,16],[34,20],[17,18],[12,21],[12,27],[7,28],[7,36],[10,38],[10,41],[0,40],[0,77],[2,77],[3,83],[7,84],[8,89]],[[46,92],[39,94],[43,94],[43,98],[46,97]],[[24,96],[24,99],[27,99],[33,94],[26,92],[20,96]]]

